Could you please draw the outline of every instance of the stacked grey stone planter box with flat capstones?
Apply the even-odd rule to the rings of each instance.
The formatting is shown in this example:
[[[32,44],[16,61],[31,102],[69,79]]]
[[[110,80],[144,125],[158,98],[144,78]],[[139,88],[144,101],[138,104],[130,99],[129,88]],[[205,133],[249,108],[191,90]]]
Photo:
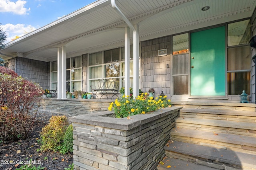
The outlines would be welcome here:
[[[182,107],[159,109],[131,119],[112,111],[70,117],[76,170],[156,170]]]

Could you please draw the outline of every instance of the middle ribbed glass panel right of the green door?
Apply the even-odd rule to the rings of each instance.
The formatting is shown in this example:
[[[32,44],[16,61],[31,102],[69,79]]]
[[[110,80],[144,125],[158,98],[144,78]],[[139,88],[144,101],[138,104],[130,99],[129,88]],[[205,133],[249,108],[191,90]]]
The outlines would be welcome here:
[[[251,69],[251,47],[228,48],[228,71]]]

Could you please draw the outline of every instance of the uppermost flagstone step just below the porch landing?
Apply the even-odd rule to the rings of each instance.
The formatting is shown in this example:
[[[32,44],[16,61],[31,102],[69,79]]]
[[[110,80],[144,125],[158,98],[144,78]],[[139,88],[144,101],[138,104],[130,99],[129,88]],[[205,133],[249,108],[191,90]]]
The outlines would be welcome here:
[[[180,117],[256,123],[256,111],[182,108]]]

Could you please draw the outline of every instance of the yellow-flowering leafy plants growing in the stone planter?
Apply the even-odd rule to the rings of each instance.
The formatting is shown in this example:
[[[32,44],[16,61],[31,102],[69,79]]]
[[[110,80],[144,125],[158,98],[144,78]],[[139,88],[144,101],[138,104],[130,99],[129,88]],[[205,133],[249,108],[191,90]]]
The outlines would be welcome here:
[[[159,98],[149,97],[148,93],[142,93],[136,99],[130,96],[123,96],[110,103],[108,110],[114,110],[117,118],[128,117],[131,115],[150,113],[164,107],[171,107],[171,100],[166,99],[167,96],[159,96]]]

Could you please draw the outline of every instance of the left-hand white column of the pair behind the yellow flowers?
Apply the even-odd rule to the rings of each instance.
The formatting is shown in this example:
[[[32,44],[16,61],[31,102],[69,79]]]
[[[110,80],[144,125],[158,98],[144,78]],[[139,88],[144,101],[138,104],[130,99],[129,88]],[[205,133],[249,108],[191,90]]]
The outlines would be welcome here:
[[[130,28],[124,28],[124,95],[130,96]]]

